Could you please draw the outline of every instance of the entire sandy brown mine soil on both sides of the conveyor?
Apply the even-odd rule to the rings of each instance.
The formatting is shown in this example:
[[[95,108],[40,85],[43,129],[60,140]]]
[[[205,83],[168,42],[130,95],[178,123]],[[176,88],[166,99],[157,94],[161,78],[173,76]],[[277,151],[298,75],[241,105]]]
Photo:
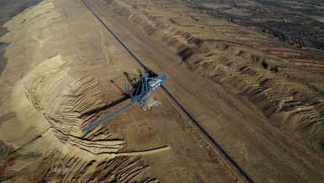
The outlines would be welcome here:
[[[181,1],[84,2],[170,76],[165,87],[253,181],[323,180],[321,55]],[[123,72],[142,69],[82,1],[45,0],[4,26],[2,182],[244,182],[161,89],[162,105],[82,132],[127,104],[100,110],[123,98]]]

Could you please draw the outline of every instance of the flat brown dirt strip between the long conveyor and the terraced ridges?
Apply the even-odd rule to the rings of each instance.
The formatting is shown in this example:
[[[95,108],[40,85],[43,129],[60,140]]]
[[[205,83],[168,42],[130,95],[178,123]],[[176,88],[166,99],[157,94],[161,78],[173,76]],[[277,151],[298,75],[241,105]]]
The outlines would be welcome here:
[[[103,1],[86,2],[143,64],[158,73],[168,73],[170,80],[165,87],[255,182],[323,179],[323,160],[269,125],[249,103],[181,67],[174,50],[143,34]]]

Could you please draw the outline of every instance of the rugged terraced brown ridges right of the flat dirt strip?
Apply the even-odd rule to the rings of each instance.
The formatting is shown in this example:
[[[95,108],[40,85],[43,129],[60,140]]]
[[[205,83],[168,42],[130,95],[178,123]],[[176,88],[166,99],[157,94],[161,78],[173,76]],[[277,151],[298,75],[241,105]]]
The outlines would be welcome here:
[[[291,60],[280,58],[283,57],[280,54],[291,53],[290,58],[310,55],[314,65],[323,64],[322,56],[190,8],[179,9],[174,3],[126,0],[105,3],[147,35],[172,47],[182,58],[182,65],[245,98],[269,123],[323,155],[322,70],[303,69]],[[273,48],[282,51],[271,51]]]

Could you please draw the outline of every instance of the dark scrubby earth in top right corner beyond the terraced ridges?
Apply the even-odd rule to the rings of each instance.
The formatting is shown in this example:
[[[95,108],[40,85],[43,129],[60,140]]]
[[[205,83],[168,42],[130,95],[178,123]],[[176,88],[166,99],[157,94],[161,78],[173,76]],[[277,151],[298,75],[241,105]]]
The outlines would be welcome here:
[[[282,42],[324,49],[321,0],[187,1],[197,10],[269,33]]]

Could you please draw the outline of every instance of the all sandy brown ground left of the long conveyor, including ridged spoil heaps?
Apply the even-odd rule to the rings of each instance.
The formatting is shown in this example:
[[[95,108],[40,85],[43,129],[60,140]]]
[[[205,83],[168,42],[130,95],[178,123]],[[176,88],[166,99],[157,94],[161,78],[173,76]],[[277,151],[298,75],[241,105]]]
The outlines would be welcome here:
[[[81,131],[126,104],[79,118],[122,98],[110,80],[141,67],[80,1],[43,1],[5,26],[1,182],[235,182],[161,91],[156,110]]]

